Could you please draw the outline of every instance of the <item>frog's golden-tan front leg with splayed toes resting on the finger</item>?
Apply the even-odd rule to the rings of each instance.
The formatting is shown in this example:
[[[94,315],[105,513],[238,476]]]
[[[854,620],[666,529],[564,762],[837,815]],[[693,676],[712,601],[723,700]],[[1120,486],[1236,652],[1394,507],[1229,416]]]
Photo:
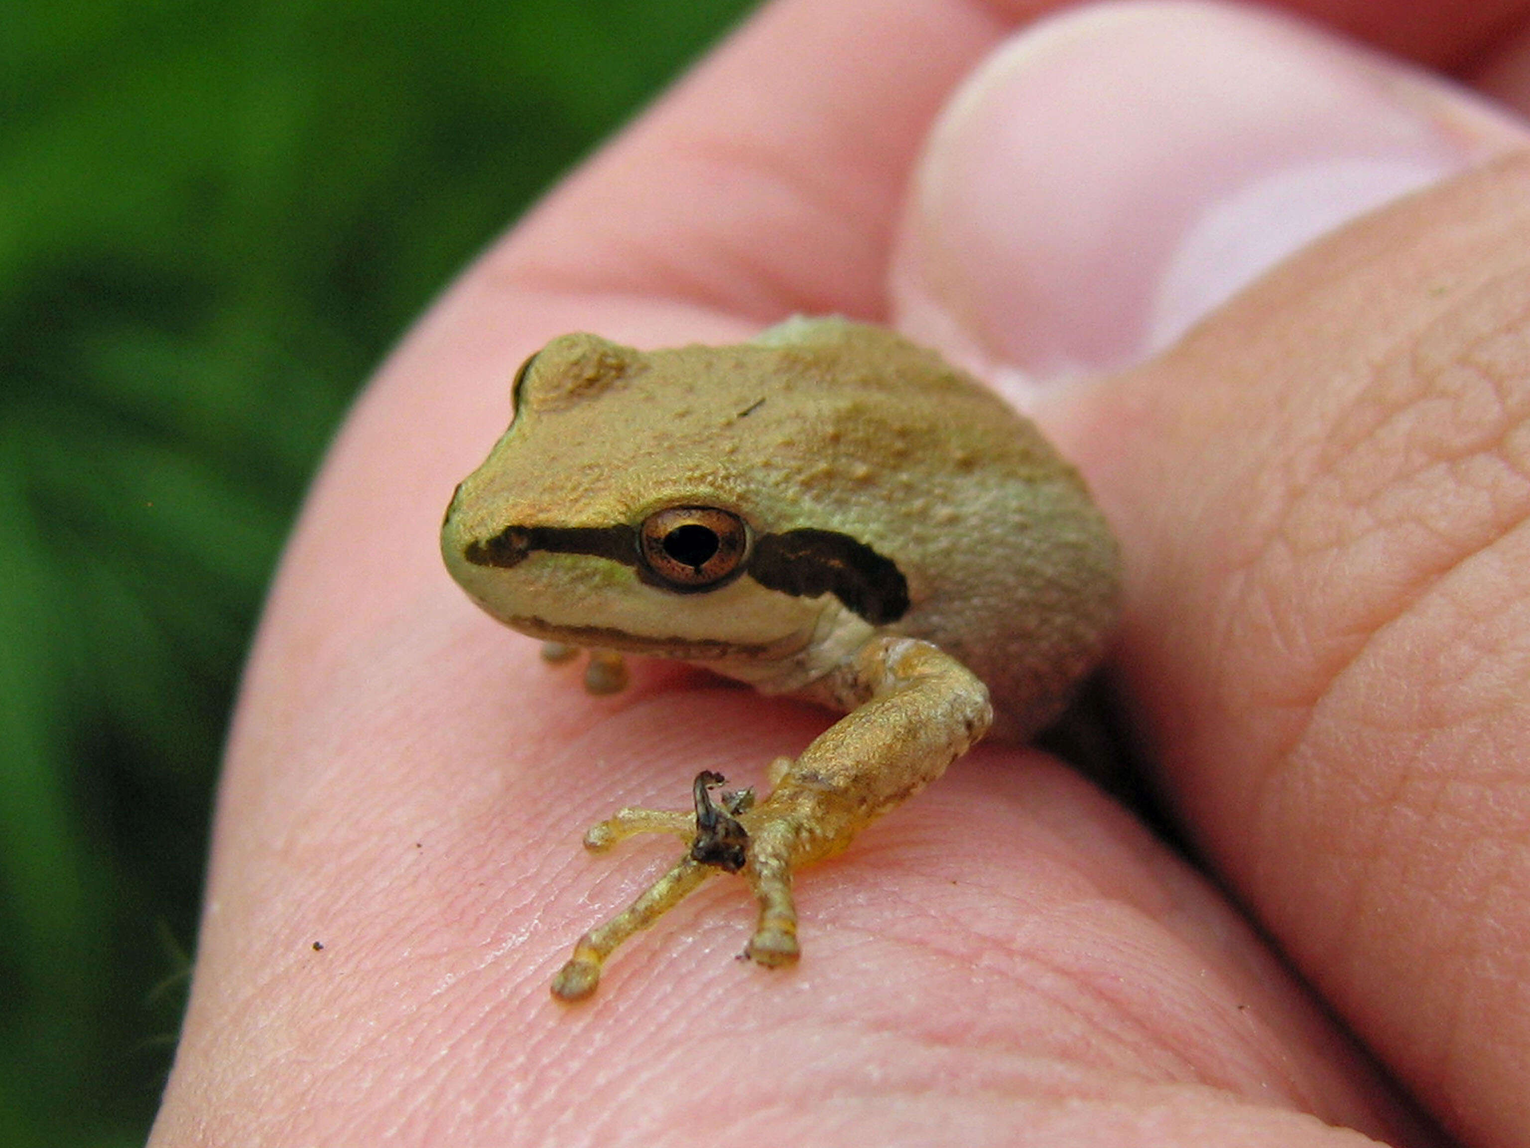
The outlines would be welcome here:
[[[874,817],[935,781],[993,721],[987,687],[959,661],[915,638],[878,637],[823,683],[825,696],[849,710],[796,761],[771,767],[770,796],[748,808],[730,805],[728,820],[744,839],[742,871],[759,900],[759,920],[745,954],[759,964],[797,958],[793,872],[829,857]],[[707,775],[702,775],[704,778]],[[718,868],[708,859],[705,785],[698,778],[696,814],[623,810],[586,836],[604,848],[630,833],[695,833],[692,850],[626,911],[580,938],[554,980],[562,1000],[595,990],[606,955],[678,905]],[[728,856],[724,850],[719,857]]]

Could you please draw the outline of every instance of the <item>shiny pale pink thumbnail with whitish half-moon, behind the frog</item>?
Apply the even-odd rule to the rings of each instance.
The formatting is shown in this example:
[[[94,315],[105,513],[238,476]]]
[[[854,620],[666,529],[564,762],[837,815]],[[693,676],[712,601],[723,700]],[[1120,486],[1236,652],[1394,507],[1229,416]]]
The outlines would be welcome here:
[[[932,133],[898,321],[1037,380],[1120,367],[1317,236],[1524,138],[1284,18],[1071,9],[1001,47]]]

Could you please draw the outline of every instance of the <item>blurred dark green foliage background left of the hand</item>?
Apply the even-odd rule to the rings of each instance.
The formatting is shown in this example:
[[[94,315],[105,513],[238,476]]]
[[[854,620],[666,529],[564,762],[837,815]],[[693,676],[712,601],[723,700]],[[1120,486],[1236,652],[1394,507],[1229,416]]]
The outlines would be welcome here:
[[[747,6],[5,6],[5,1148],[147,1133],[240,660],[346,403]]]

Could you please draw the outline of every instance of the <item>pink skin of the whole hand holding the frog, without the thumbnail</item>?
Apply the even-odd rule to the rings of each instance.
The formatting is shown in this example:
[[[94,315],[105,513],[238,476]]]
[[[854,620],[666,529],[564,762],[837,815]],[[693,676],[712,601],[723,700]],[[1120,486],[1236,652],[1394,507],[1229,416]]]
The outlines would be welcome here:
[[[563,331],[889,318],[930,119],[1034,11],[773,5],[387,363],[248,670],[155,1145],[1530,1142],[1524,159],[1043,412],[1123,542],[1115,666],[1158,784],[1236,903],[1043,755],[982,745],[805,874],[796,970],[730,960],[750,906],[719,880],[594,1003],[546,996],[673,851],[591,862],[589,822],[702,768],[757,782],[829,716],[655,663],[584,695],[441,569],[445,494]],[[1515,6],[1302,11],[1530,90]],[[875,58],[843,51],[872,26]]]

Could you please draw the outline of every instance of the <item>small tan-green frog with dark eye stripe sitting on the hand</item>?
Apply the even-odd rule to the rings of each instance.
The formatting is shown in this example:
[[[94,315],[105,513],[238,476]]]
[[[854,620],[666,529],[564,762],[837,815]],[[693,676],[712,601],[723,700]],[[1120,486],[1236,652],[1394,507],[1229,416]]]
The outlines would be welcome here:
[[[1036,427],[935,352],[881,328],[793,318],[750,343],[641,352],[563,335],[520,367],[514,419],[456,490],[451,576],[554,655],[681,658],[845,713],[770,793],[624,808],[606,850],[673,833],[687,853],[584,934],[552,984],[601,963],[708,876],[759,900],[745,955],[797,958],[793,872],[941,776],[993,729],[1024,739],[1102,657],[1117,546]],[[991,698],[991,704],[990,704]]]

